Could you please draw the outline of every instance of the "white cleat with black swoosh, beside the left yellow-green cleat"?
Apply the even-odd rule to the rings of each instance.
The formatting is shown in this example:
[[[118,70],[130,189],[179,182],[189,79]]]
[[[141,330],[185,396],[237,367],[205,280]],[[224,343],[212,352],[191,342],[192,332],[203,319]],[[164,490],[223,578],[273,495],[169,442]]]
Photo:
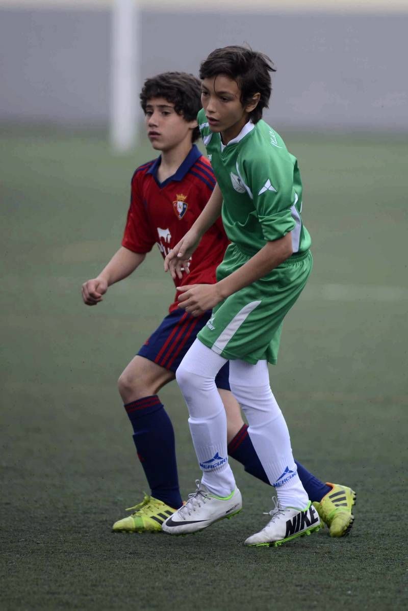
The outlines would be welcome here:
[[[242,497],[238,488],[228,497],[218,497],[196,480],[197,489],[188,495],[188,501],[161,525],[170,535],[188,535],[206,529],[218,520],[231,518],[242,509]]]

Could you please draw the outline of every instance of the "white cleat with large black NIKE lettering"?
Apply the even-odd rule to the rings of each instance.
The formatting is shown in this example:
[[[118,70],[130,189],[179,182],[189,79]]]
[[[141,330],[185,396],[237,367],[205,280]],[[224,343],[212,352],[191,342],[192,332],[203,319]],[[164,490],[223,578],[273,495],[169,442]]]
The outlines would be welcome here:
[[[280,507],[273,497],[275,507],[266,515],[272,516],[268,524],[254,535],[248,537],[245,545],[277,547],[298,536],[310,535],[320,530],[319,514],[309,501],[305,510],[295,507]]]

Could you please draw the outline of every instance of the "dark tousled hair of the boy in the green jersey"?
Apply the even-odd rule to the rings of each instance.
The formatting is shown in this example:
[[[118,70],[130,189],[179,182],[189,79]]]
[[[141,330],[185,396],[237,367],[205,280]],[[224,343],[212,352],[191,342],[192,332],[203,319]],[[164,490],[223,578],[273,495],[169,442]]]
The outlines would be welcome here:
[[[267,55],[253,51],[245,46],[224,46],[215,49],[200,65],[201,79],[225,75],[236,81],[241,90],[241,104],[250,104],[254,93],[261,93],[261,98],[252,112],[250,119],[258,123],[262,119],[264,108],[268,108],[272,81],[270,72],[275,72],[273,62]]]

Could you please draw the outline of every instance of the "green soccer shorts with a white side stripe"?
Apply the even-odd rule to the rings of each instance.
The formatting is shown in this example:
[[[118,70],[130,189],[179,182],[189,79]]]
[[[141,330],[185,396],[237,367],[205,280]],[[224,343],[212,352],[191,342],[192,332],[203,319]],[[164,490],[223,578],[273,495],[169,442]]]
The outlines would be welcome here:
[[[217,281],[251,258],[230,244],[217,268]],[[310,251],[292,255],[267,276],[221,301],[212,311],[198,339],[224,359],[255,364],[278,359],[284,316],[295,303],[313,266]]]

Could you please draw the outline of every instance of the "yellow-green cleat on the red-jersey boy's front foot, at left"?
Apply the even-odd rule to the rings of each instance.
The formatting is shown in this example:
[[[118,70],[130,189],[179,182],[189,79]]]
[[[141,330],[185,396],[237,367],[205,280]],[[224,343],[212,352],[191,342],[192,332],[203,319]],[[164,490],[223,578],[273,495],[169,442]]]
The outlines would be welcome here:
[[[161,524],[171,516],[176,509],[169,507],[161,500],[145,494],[144,499],[135,507],[126,511],[133,511],[130,516],[114,523],[112,530],[122,533],[162,532]]]

